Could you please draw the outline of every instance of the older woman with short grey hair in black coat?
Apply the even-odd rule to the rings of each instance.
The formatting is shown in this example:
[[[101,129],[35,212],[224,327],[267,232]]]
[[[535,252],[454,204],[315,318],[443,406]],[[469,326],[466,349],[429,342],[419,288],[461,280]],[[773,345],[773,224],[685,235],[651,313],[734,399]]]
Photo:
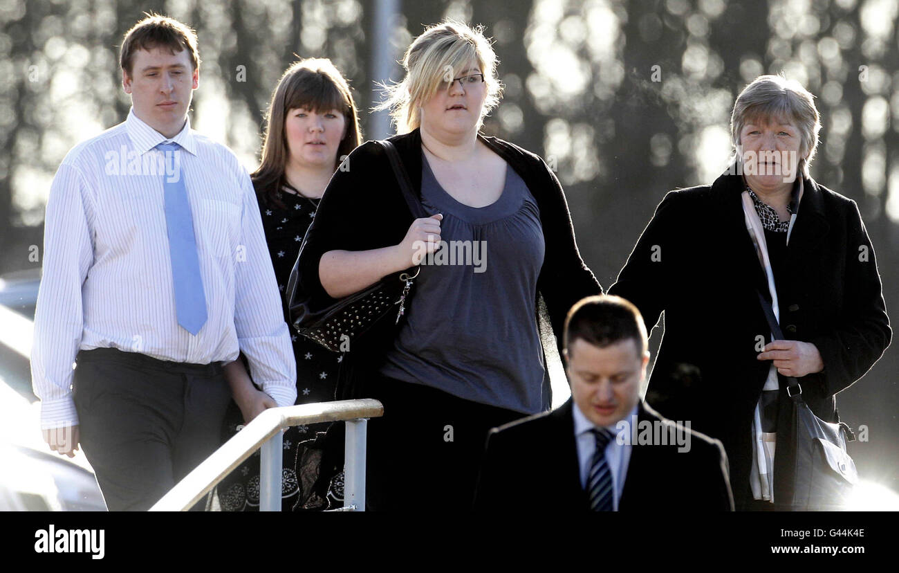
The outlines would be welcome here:
[[[734,104],[731,168],[669,192],[610,288],[647,329],[664,311],[646,401],[725,444],[737,510],[790,509],[795,444],[779,376],[837,422],[835,395],[892,336],[858,206],[809,175],[820,128],[802,85],[757,77]],[[770,340],[760,294],[787,340]]]

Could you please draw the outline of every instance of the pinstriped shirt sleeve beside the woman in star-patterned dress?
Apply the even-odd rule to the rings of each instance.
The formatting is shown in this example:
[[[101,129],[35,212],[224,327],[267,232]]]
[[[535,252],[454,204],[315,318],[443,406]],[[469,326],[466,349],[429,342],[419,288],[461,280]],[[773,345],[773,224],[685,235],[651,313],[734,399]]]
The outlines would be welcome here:
[[[265,245],[263,220],[253,184],[241,170],[242,251],[236,256],[234,324],[237,345],[250,364],[250,374],[278,406],[297,399],[297,363],[284,322],[280,291]]]

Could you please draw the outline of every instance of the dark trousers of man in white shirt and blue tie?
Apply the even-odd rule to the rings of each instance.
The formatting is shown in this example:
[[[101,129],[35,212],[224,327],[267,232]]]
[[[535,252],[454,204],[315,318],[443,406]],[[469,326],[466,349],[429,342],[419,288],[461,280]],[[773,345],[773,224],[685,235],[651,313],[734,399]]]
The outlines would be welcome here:
[[[76,363],[81,448],[110,511],[149,509],[218,448],[231,399],[218,363],[114,348],[81,351]]]

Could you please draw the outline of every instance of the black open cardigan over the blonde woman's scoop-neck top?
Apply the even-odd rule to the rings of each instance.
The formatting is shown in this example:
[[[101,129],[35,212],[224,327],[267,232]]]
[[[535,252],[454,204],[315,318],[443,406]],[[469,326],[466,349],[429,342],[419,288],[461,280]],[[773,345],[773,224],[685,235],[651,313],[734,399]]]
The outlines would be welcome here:
[[[535,297],[539,301],[542,294],[551,325],[551,332],[549,328],[541,327],[541,340],[546,353],[552,344],[552,336],[549,335],[555,334],[556,345],[561,351],[562,330],[568,310],[583,297],[602,292],[599,282],[578,253],[565,193],[556,175],[537,155],[502,139],[480,135],[478,139],[503,157],[528,185],[537,201],[546,250]],[[390,140],[396,146],[414,191],[421,197],[420,131],[414,130]],[[362,251],[396,245],[403,240],[413,220],[383,148],[370,141],[362,144],[334,173],[325,189],[316,218],[303,241],[294,270],[296,276],[291,277],[295,280],[291,280],[288,296],[292,300],[307,300],[312,309],[325,309],[334,304],[335,299],[325,292],[318,276],[318,263],[322,255],[332,250]],[[409,312],[414,312],[414,299],[413,290],[411,302],[407,305]],[[382,322],[394,321],[385,319]],[[357,360],[349,361],[354,365],[348,364],[341,373],[344,388],[343,391],[338,390],[338,398],[360,395],[358,388],[348,391],[345,386],[348,383],[352,386],[361,378],[373,375],[372,369],[378,366],[377,360],[387,349],[387,344],[392,342],[393,336],[396,336],[396,328],[378,336],[366,336],[367,342],[360,345],[364,346],[364,353],[355,354]],[[363,362],[358,360],[360,358]],[[364,365],[361,372],[358,370],[360,363]],[[352,372],[353,369],[356,372]],[[548,378],[545,378],[545,386],[548,386]]]

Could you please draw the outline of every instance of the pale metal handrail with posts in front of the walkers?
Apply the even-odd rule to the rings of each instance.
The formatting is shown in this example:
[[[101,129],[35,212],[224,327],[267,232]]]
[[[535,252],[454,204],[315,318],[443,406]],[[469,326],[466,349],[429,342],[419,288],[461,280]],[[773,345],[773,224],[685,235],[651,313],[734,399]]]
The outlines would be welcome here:
[[[363,511],[366,422],[383,415],[381,403],[370,398],[269,408],[175,484],[150,511],[187,511],[260,447],[259,509],[280,511],[281,431],[291,425],[341,421],[347,424],[343,506]]]

